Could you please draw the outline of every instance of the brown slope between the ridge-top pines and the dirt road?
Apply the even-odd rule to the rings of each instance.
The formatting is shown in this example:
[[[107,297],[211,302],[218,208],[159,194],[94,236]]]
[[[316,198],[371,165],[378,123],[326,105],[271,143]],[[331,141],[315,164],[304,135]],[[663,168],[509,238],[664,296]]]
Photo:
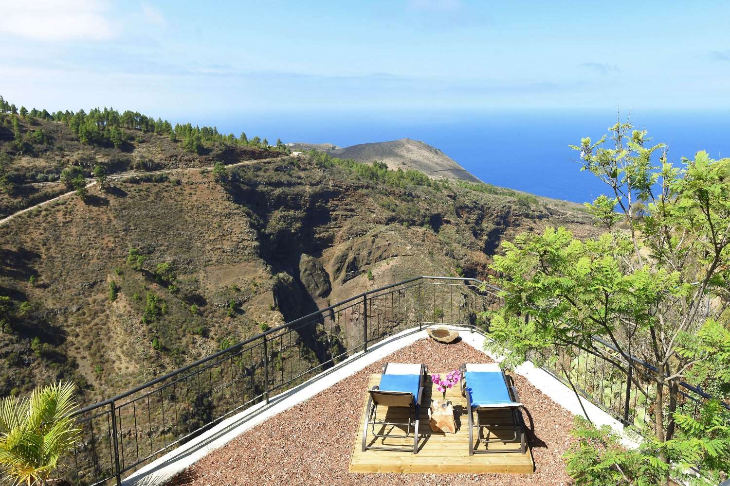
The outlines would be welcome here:
[[[6,117],[0,114],[0,219],[23,208],[49,200],[72,189],[61,181],[65,168],[78,168],[82,176],[93,177],[98,165],[107,176],[148,173],[172,168],[194,168],[215,162],[231,164],[277,156],[272,147],[215,143],[195,152],[167,133],[127,128],[119,148],[82,143],[61,122],[40,117]],[[12,128],[10,119],[18,121]],[[4,123],[2,123],[4,121]],[[22,149],[18,147],[20,135]],[[36,136],[41,133],[42,136]]]

